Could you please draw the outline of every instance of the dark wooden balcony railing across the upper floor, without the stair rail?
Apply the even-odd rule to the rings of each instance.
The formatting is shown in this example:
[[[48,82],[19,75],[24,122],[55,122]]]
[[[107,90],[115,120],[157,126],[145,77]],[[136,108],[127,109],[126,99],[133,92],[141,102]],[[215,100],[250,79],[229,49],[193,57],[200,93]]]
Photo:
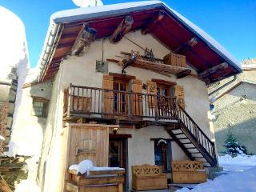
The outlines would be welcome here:
[[[64,116],[177,120],[173,97],[70,84],[64,100]]]

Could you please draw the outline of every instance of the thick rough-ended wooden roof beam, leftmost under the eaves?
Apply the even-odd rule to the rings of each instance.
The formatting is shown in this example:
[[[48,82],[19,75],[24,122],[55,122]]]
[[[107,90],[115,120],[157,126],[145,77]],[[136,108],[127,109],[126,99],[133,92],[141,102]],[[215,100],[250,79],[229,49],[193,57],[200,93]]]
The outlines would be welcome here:
[[[79,55],[82,53],[85,47],[89,47],[91,42],[94,42],[96,38],[97,30],[90,28],[86,23],[82,26],[82,30],[78,34],[78,38],[74,42],[74,46],[70,51],[71,55]]]

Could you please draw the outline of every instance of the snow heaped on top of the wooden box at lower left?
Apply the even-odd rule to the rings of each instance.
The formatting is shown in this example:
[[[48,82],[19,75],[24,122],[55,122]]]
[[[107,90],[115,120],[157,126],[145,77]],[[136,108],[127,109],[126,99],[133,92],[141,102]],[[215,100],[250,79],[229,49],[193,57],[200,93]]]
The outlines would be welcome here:
[[[120,167],[107,167],[107,166],[94,166],[93,162],[86,159],[80,162],[78,165],[74,164],[69,167],[69,170],[76,170],[80,174],[90,174],[90,171],[101,171],[101,170],[124,170]]]

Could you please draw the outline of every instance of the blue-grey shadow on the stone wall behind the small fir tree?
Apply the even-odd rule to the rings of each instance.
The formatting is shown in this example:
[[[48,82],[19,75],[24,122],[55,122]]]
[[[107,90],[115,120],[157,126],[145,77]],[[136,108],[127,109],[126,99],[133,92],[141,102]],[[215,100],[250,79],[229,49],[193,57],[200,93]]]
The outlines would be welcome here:
[[[256,154],[256,118],[250,118],[233,126],[222,127],[222,130],[215,130],[218,153],[226,151],[223,144],[229,130],[231,130],[232,134],[234,134],[242,146],[246,146],[249,154]]]

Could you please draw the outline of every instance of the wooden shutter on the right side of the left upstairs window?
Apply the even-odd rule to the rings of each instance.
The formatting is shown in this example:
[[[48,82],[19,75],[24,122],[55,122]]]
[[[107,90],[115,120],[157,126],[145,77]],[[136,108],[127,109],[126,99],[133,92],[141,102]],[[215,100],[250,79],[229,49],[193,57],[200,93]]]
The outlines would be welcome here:
[[[133,99],[133,106],[132,106],[132,114],[133,115],[142,115],[142,81],[138,79],[132,79],[132,99]]]

